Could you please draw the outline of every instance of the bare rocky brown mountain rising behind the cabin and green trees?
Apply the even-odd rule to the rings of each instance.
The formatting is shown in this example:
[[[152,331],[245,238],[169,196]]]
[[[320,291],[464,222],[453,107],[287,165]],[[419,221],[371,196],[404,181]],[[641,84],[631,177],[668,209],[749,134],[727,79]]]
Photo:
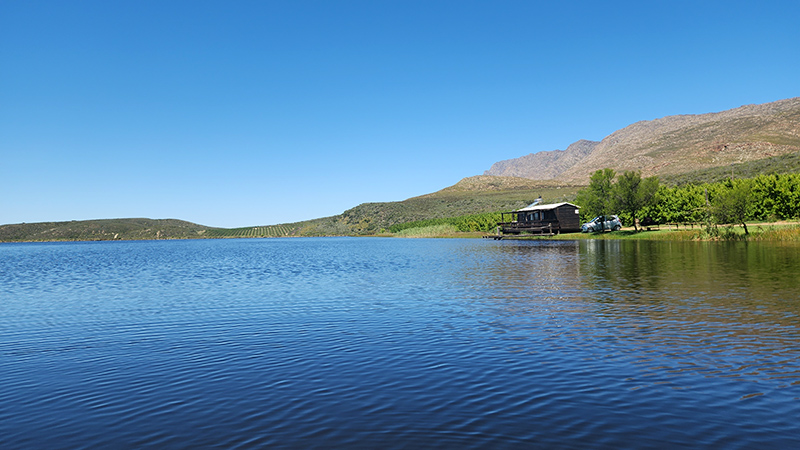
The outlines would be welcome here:
[[[641,121],[600,142],[578,141],[492,165],[485,175],[587,183],[606,167],[675,176],[800,152],[800,97],[719,113]]]

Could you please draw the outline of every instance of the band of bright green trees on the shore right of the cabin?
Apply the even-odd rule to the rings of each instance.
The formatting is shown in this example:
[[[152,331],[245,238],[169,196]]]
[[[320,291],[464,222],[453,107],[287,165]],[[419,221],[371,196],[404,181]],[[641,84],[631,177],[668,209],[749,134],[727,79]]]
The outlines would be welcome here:
[[[643,218],[655,223],[738,223],[747,233],[747,220],[800,218],[800,174],[670,187],[659,184],[656,177],[643,179],[639,172],[617,176],[612,169],[603,169],[592,175],[575,201],[587,219],[615,213],[634,226]]]

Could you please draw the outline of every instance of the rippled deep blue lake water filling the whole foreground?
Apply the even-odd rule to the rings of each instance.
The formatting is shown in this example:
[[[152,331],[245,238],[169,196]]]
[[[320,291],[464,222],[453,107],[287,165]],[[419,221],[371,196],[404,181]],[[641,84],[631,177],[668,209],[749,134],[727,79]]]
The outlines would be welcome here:
[[[798,448],[800,247],[0,244],[0,448]]]

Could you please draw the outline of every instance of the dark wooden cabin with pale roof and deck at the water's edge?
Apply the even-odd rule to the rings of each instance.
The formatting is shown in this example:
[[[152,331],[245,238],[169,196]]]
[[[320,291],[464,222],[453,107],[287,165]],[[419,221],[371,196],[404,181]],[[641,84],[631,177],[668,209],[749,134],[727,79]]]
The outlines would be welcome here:
[[[498,231],[506,234],[559,234],[581,231],[579,206],[572,203],[534,203],[526,208],[501,213]],[[506,221],[508,219],[508,221]]]

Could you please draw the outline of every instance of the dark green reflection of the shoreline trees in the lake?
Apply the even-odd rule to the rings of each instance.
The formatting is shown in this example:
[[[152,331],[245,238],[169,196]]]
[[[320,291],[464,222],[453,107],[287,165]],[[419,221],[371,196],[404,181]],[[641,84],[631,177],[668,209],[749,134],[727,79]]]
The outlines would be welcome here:
[[[584,241],[582,281],[600,301],[698,302],[797,312],[800,247],[747,242]]]

